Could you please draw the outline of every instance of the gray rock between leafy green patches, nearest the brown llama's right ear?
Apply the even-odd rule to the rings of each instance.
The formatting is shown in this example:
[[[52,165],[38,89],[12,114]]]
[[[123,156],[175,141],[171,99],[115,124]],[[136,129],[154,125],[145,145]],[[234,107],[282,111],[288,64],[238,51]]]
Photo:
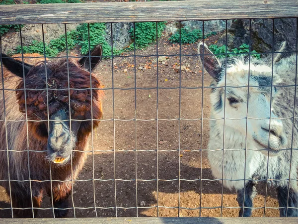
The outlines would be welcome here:
[[[111,24],[106,25],[106,41],[111,44]],[[130,29],[134,27],[132,22],[113,23],[113,48],[120,50],[132,43]]]

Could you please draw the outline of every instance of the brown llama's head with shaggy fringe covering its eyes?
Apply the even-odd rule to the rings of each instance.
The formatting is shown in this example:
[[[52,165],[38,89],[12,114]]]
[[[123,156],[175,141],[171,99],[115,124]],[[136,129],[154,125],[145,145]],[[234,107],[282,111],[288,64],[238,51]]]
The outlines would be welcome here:
[[[91,118],[93,128],[102,118],[103,91],[89,71],[101,60],[101,52],[97,46],[91,57],[86,55],[78,61],[62,58],[24,66],[20,61],[2,57],[6,69],[22,78],[16,88],[19,110],[27,113],[30,133],[47,145],[50,162],[66,164],[72,150],[86,141],[91,132]]]

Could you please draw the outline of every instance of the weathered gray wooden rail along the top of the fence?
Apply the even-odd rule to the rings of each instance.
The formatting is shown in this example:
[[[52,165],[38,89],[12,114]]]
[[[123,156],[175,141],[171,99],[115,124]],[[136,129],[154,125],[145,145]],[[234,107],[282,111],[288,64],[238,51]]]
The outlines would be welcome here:
[[[0,6],[0,24],[298,17],[298,0],[187,0]]]

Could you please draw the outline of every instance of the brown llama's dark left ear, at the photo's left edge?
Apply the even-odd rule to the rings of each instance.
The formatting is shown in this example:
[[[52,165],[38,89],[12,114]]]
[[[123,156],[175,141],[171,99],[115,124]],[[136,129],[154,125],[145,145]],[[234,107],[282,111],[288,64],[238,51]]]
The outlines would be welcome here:
[[[8,57],[6,54],[0,55],[1,62],[5,66],[5,68],[15,74],[16,76],[19,76],[23,78],[23,63],[21,61],[15,60],[13,58]],[[24,75],[26,76],[29,72],[29,70],[32,68],[32,65],[29,65],[24,62]]]

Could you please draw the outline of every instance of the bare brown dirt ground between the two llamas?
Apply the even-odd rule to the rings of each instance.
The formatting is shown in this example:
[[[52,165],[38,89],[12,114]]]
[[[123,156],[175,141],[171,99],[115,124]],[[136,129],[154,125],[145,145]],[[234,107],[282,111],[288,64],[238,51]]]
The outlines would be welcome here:
[[[212,41],[214,39],[211,38],[207,42]],[[93,132],[94,156],[88,153],[85,166],[78,180],[74,182],[70,205],[75,207],[75,210],[71,208],[68,217],[74,217],[74,213],[75,217],[96,217],[96,215],[98,217],[116,217],[116,215],[118,217],[156,217],[157,205],[160,217],[177,217],[177,208],[164,207],[178,206],[181,207],[180,217],[198,217],[200,212],[202,217],[221,216],[219,207],[222,205],[222,184],[212,181],[214,178],[209,168],[207,151],[204,151],[207,149],[209,140],[209,124],[208,120],[203,120],[203,124],[199,120],[202,118],[202,110],[203,118],[210,116],[210,89],[203,89],[202,104],[200,87],[203,85],[202,82],[204,87],[208,87],[211,77],[205,73],[203,79],[199,58],[195,56],[197,44],[182,45],[181,52],[191,55],[181,56],[181,66],[185,66],[181,71],[181,77],[179,56],[168,56],[165,61],[159,62],[157,76],[157,65],[152,63],[156,56],[149,56],[156,55],[156,45],[146,50],[138,50],[137,55],[143,56],[136,57],[136,64],[134,64],[134,57],[115,57],[114,83],[112,82],[112,60],[104,60],[98,65],[95,73],[98,74],[102,84],[107,89],[112,88],[113,85],[115,88],[115,126],[112,120],[113,91],[109,89],[105,91],[106,96],[103,101],[104,121]],[[133,54],[133,52],[129,53]],[[179,45],[160,40],[158,54],[179,54]],[[179,89],[180,81],[181,89]],[[135,86],[149,89],[135,91]],[[185,87],[191,89],[185,89]],[[180,113],[179,105],[181,105]],[[180,122],[179,115],[182,118]],[[134,120],[136,117],[137,121]],[[116,151],[113,151],[114,147]],[[203,149],[202,155],[200,149]],[[93,181],[90,180],[93,175],[92,159],[94,159],[96,179],[94,186]],[[139,179],[137,182],[136,177]],[[179,177],[180,182],[177,180]],[[114,178],[121,180],[116,180],[115,183]],[[201,178],[209,180],[198,180]],[[264,216],[262,207],[265,203],[265,188],[266,185],[262,183],[257,186],[254,217]],[[94,206],[100,208],[95,212]],[[115,206],[117,210],[113,208]],[[142,208],[136,209],[136,206]],[[223,206],[238,206],[234,191],[224,188]],[[9,198],[0,188],[0,208],[8,207],[10,207]],[[50,207],[50,200],[45,198],[42,208]],[[278,207],[276,193],[270,188],[266,207]],[[236,217],[238,212],[237,208],[224,208],[222,211],[223,217]],[[266,209],[266,216],[279,216],[279,211]],[[10,217],[10,211],[0,210],[0,217]],[[51,209],[39,211],[38,218],[47,217],[53,217]]]

